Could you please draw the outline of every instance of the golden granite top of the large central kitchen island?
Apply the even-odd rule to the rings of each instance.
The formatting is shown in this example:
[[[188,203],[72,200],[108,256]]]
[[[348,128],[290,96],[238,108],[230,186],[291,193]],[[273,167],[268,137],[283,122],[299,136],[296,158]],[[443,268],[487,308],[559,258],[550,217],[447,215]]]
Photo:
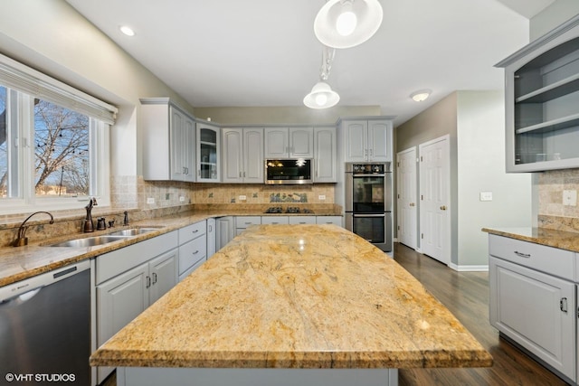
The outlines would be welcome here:
[[[412,275],[334,225],[253,226],[90,357],[92,366],[487,367]]]

